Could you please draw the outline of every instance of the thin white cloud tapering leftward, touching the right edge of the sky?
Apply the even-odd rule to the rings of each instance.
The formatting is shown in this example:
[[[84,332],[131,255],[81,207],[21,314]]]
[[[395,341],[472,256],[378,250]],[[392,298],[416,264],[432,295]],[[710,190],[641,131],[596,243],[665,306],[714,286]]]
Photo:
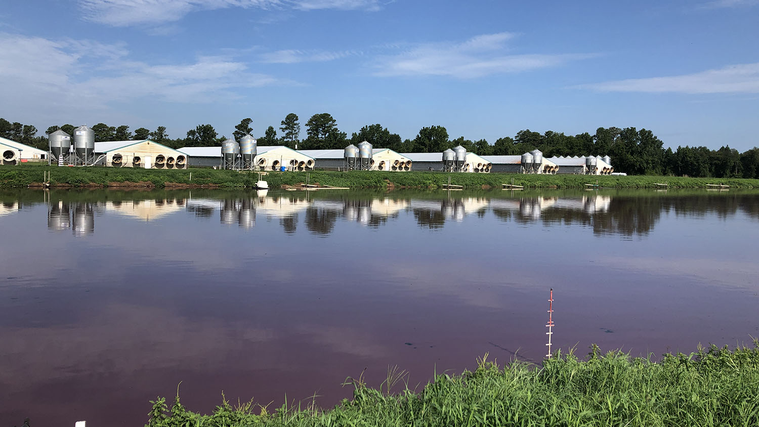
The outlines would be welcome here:
[[[616,80],[578,87],[599,92],[759,93],[759,62],[680,76]]]

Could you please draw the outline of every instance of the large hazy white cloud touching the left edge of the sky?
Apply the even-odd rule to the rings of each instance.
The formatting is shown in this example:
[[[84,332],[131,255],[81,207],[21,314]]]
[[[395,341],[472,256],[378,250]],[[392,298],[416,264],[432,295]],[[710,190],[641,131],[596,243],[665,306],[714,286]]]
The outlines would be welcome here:
[[[149,64],[131,60],[120,45],[8,33],[0,33],[0,45],[5,46],[0,55],[0,80],[5,83],[0,107],[11,108],[13,100],[19,111],[93,111],[134,99],[208,102],[234,98],[240,88],[293,84],[250,72],[247,64],[228,56]]]

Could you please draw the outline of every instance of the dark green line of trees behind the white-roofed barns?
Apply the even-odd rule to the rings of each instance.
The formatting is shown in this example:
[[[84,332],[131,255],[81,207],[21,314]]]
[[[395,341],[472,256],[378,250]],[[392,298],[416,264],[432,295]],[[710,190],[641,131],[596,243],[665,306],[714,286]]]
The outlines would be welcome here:
[[[306,135],[301,140],[300,118],[288,114],[279,127],[269,126],[258,136],[260,146],[284,145],[292,149],[343,149],[350,143],[369,141],[376,148],[389,148],[396,152],[442,152],[454,146],[464,146],[479,155],[520,155],[540,149],[546,157],[555,155],[609,155],[616,171],[628,174],[657,174],[690,177],[746,177],[759,178],[759,148],[738,152],[729,146],[709,149],[705,146],[679,146],[676,150],[664,149],[662,141],[650,130],[635,127],[599,127],[595,133],[565,135],[548,130],[545,133],[520,130],[515,137],[502,137],[491,144],[487,140],[471,141],[464,137],[451,139],[442,126],[422,127],[413,139],[402,140],[398,133],[391,133],[381,124],[367,124],[358,132],[342,132],[337,121],[329,113],[311,116],[305,124]],[[253,120],[244,118],[235,126],[231,137],[240,140],[246,133],[253,134]],[[74,126],[63,124],[51,126],[46,134],[61,129],[73,134]],[[104,123],[92,127],[96,142],[120,140],[146,140],[162,143],[172,148],[183,146],[219,146],[225,136],[210,124],[199,124],[187,130],[184,138],[168,137],[166,128],[156,130],[139,127],[131,132],[129,126],[109,126]],[[277,131],[279,130],[279,134]],[[47,138],[37,137],[37,129],[31,125],[11,123],[0,118],[0,137],[47,149]]]

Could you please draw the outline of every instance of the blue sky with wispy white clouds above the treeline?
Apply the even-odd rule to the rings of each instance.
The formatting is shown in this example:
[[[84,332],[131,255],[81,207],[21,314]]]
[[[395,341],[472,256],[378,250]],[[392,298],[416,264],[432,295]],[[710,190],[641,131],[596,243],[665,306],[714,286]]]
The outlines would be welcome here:
[[[757,18],[759,0],[9,1],[0,117],[172,138],[250,117],[259,137],[329,112],[349,136],[634,126],[743,151],[759,146]]]

